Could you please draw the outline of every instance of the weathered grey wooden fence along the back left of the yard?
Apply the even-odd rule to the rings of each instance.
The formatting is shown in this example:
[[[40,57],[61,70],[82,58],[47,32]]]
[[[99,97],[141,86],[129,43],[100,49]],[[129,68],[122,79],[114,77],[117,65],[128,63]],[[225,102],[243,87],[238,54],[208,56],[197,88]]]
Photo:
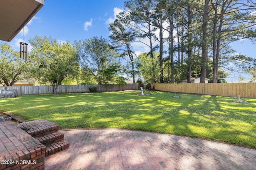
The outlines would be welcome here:
[[[92,85],[60,85],[57,93],[82,93],[89,92],[89,87],[97,87],[97,92],[112,92],[119,90],[138,90],[143,84],[92,84]],[[6,86],[0,87],[0,90],[17,89],[18,95],[30,94],[52,94],[52,86]]]

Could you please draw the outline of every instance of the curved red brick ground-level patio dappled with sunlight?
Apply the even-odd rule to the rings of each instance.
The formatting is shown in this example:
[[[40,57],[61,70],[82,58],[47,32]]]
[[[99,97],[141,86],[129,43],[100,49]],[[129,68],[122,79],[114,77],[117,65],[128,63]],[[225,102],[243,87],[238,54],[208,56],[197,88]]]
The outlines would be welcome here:
[[[61,131],[70,148],[46,170],[255,170],[256,150],[188,137],[114,129]]]

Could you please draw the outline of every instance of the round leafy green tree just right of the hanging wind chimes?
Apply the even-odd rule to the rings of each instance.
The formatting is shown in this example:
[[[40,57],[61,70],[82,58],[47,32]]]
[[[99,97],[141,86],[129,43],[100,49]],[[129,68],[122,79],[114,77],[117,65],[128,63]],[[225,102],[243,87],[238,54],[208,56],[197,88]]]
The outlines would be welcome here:
[[[50,83],[54,95],[62,80],[68,76],[76,76],[78,57],[76,49],[69,43],[58,43],[52,37],[29,39],[33,46],[31,51],[31,72],[35,78],[43,83]]]

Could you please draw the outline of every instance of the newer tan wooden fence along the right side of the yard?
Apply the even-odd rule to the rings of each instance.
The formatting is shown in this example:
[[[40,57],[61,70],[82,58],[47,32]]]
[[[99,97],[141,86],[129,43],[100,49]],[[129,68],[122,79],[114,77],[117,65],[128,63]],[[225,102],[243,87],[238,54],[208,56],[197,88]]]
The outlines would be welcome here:
[[[256,98],[256,83],[156,83],[155,90],[229,97],[240,95],[242,98]]]

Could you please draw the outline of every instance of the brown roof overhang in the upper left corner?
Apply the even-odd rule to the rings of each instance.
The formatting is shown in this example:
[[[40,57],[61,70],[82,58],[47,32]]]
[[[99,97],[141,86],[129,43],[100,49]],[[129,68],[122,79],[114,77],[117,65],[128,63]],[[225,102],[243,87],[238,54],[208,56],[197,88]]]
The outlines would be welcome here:
[[[0,40],[10,42],[44,6],[44,0],[1,0]]]

